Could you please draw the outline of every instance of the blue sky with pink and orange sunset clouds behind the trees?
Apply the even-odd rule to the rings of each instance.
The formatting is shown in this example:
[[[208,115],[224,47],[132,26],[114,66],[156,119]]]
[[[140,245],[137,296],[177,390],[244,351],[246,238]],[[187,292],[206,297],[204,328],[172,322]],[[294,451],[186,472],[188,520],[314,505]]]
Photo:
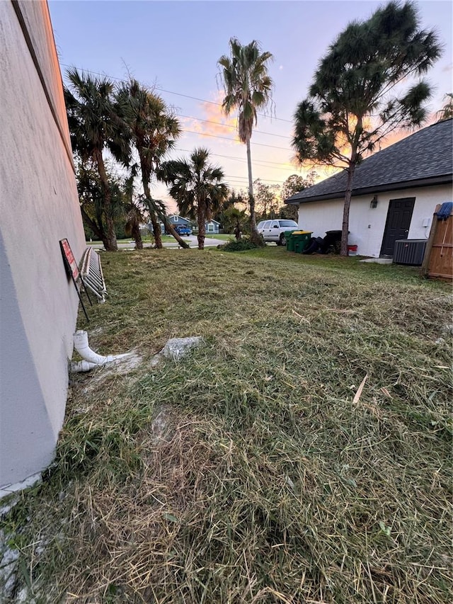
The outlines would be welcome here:
[[[448,0],[416,4],[423,28],[435,28],[444,45],[442,58],[428,74],[435,86],[429,106],[434,114],[453,88],[453,8]],[[368,18],[381,5],[365,0],[49,2],[63,79],[74,66],[112,79],[125,79],[130,72],[154,86],[176,110],[184,130],[171,157],[207,147],[236,190],[247,186],[246,149],[236,137],[235,116],[222,113],[217,67],[217,59],[229,52],[229,38],[236,36],[243,44],[258,40],[274,55],[273,108],[258,115],[251,152],[253,179],[281,185],[292,173],[306,173],[292,163],[292,116],[319,59],[350,21]],[[328,174],[323,168],[316,171],[323,178]],[[151,193],[168,200],[159,183]]]

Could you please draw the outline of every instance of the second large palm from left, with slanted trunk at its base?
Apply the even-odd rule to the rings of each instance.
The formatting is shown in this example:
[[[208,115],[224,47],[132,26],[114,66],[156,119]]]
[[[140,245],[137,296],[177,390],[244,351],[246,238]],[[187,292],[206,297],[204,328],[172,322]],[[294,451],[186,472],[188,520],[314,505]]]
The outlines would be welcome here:
[[[162,159],[170,149],[173,149],[176,139],[180,136],[179,122],[168,110],[163,99],[139,84],[137,80],[130,79],[123,82],[115,98],[117,114],[121,115],[130,127],[131,142],[137,148],[139,155],[144,200],[153,225],[156,247],[162,248],[160,219],[178,244],[188,248],[188,244],[168,222],[166,213],[162,212],[161,203],[151,197],[149,189],[151,178],[156,175]]]

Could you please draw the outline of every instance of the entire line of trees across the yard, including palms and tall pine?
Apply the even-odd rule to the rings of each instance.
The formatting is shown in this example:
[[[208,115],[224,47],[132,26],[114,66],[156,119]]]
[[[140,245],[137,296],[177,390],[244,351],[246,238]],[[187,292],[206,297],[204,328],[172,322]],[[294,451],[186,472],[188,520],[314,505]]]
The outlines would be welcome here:
[[[420,28],[415,4],[392,0],[338,35],[319,62],[308,96],[296,108],[292,147],[299,164],[342,167],[348,174],[343,255],[348,249],[355,169],[391,132],[425,121],[432,89],[421,76],[441,52],[435,31]],[[139,223],[145,214],[156,247],[162,246],[161,222],[180,246],[188,246],[168,221],[164,203],[151,196],[150,184],[156,180],[168,185],[180,213],[197,221],[200,249],[205,221],[213,216],[222,217],[220,222],[229,223],[235,232],[242,223],[256,245],[263,244],[256,226],[257,210],[260,218],[296,217],[294,207],[279,206],[276,186],[253,181],[252,176],[253,127],[258,110],[272,108],[273,103],[273,80],[268,73],[272,60],[273,55],[262,52],[256,40],[241,45],[231,38],[229,55],[217,62],[224,86],[222,109],[227,115],[237,112],[239,139],[246,145],[248,190],[239,193],[229,190],[222,168],[212,164],[207,149],[195,149],[188,159],[167,159],[182,130],[173,110],[153,90],[132,78],[115,85],[106,77],[93,78],[76,69],[67,72],[64,96],[81,211],[84,223],[106,250],[117,249],[115,219],[119,216],[140,249]],[[418,81],[411,84],[413,78]],[[445,115],[448,111],[451,96]],[[113,162],[122,166],[123,178],[113,175]],[[143,193],[135,190],[136,178]],[[290,176],[281,198],[311,186],[314,178],[314,171],[306,178]]]

